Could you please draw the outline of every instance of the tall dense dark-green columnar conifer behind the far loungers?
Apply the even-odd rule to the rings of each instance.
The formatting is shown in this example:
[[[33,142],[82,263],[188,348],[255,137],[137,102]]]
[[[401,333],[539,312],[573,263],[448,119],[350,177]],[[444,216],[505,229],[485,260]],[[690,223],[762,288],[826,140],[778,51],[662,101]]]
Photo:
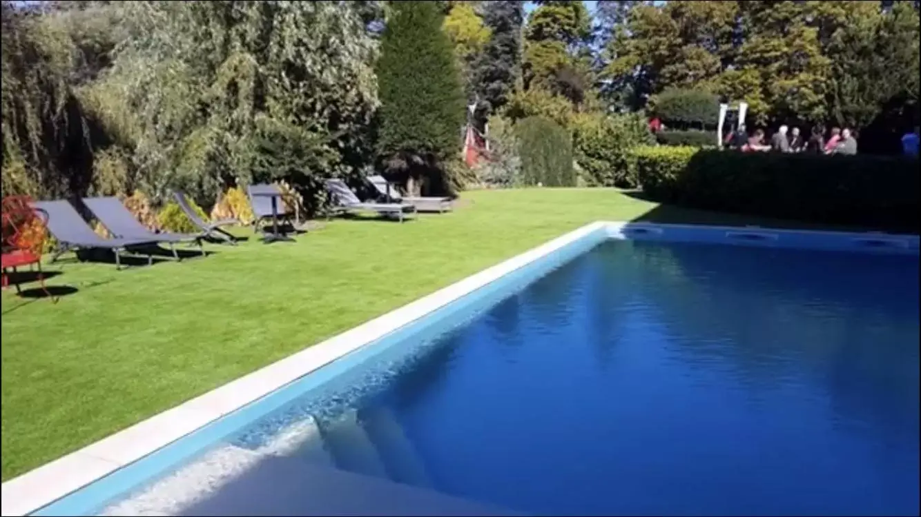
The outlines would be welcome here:
[[[418,195],[448,190],[445,161],[461,145],[464,98],[437,4],[392,5],[381,40],[379,158]]]

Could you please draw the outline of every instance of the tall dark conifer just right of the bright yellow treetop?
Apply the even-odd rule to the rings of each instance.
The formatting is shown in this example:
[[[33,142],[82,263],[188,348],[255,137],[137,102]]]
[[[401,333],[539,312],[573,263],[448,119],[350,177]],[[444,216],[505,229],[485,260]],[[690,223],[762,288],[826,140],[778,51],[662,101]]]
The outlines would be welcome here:
[[[472,69],[476,97],[488,116],[508,102],[521,76],[521,24],[524,6],[520,0],[486,2],[484,25],[491,30],[484,52]]]

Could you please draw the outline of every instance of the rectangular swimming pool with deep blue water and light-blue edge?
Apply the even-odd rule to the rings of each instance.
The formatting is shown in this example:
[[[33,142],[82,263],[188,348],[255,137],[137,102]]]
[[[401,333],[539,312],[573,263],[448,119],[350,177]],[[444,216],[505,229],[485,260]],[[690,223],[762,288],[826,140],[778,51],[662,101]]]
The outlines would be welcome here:
[[[338,476],[531,514],[916,514],[917,285],[915,239],[600,226],[38,514],[319,512]]]

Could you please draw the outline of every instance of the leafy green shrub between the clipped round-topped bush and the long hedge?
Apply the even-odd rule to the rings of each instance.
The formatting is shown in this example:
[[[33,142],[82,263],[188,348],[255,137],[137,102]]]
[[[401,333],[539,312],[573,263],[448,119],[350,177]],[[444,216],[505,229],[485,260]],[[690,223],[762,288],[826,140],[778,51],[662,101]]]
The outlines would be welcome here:
[[[573,121],[579,179],[589,187],[636,187],[631,149],[652,143],[646,121],[638,115],[580,115]]]

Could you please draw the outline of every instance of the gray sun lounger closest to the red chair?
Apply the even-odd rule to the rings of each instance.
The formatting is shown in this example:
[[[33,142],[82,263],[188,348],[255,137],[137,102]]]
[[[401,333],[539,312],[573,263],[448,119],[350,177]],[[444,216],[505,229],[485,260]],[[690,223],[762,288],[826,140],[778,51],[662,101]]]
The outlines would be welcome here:
[[[80,249],[111,249],[115,255],[115,268],[121,269],[119,251],[128,247],[155,244],[149,239],[136,238],[111,238],[101,237],[89,227],[83,217],[69,202],[58,201],[33,201],[31,206],[48,216],[48,231],[57,241],[57,249],[52,255],[52,262],[57,260],[64,252]],[[147,254],[147,264],[152,264],[154,258]]]

